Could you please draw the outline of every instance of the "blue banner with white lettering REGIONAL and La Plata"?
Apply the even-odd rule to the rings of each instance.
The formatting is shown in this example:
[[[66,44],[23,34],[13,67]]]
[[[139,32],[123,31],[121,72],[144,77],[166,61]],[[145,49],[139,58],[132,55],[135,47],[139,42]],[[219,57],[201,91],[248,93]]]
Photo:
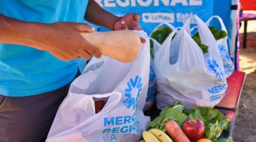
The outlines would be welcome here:
[[[191,15],[207,21],[213,15],[214,0],[95,0],[103,9],[119,17],[138,13],[146,33],[162,22],[181,27]],[[191,21],[193,24],[193,21]]]

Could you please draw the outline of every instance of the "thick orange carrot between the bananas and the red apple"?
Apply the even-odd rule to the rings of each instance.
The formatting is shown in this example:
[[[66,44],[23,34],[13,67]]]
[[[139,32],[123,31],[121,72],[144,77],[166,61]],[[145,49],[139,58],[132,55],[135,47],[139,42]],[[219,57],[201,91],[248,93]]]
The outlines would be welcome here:
[[[181,127],[175,121],[167,121],[165,129],[174,142],[190,142]]]

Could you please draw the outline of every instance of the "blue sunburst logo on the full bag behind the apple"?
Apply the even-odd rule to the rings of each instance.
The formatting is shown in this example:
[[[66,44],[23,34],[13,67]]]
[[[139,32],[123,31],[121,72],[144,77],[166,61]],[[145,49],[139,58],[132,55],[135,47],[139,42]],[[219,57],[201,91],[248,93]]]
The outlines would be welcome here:
[[[214,74],[218,77],[219,81],[225,80],[225,75],[222,72],[222,67],[216,62],[216,60],[208,60],[207,61],[208,68],[214,72]]]

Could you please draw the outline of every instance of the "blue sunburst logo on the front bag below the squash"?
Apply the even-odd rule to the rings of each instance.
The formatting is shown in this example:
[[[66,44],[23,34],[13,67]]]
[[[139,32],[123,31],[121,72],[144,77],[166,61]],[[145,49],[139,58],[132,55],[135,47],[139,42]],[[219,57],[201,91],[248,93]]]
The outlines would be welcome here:
[[[123,103],[127,107],[127,109],[133,107],[133,110],[135,109],[135,106],[137,106],[137,101],[139,98],[139,92],[142,90],[142,78],[140,76],[135,76],[135,79],[131,78],[129,82],[127,82],[128,88],[125,89],[125,96],[127,97],[126,100],[123,100]],[[134,98],[131,94],[137,92],[136,98]]]

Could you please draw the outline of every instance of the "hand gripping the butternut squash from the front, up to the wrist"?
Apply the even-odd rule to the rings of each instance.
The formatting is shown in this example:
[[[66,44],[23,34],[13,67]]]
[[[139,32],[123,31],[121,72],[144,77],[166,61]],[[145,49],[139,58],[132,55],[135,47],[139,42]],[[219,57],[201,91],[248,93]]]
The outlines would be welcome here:
[[[44,24],[39,29],[36,48],[50,52],[60,60],[69,61],[77,58],[90,60],[91,56],[100,58],[101,54],[80,32],[93,32],[94,27],[86,23],[56,22]]]

